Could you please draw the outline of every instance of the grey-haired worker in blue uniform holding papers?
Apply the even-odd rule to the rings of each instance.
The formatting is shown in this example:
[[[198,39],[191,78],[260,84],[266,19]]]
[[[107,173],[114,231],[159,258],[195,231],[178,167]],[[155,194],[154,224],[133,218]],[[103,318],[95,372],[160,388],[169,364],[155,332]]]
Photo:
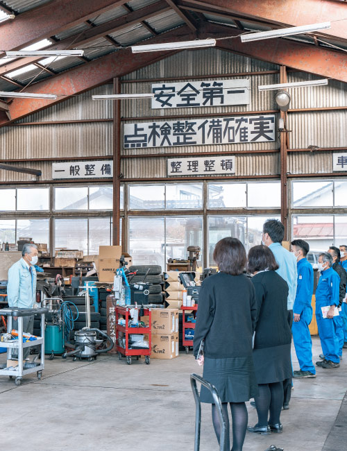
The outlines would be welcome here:
[[[338,368],[339,341],[335,333],[334,313],[339,305],[340,278],[332,269],[332,256],[328,252],[319,255],[318,269],[321,277],[316,288],[316,321],[325,359],[316,361],[316,365],[322,368]],[[323,318],[321,307],[327,306],[330,308],[326,318]]]

